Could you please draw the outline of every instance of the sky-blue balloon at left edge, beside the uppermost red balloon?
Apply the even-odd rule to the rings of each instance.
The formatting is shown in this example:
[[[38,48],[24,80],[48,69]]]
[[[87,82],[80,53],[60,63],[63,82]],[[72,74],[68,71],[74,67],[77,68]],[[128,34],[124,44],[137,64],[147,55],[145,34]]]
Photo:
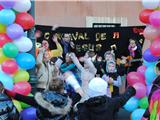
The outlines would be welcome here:
[[[0,23],[4,25],[12,24],[16,19],[15,13],[10,9],[3,9],[0,11]]]

